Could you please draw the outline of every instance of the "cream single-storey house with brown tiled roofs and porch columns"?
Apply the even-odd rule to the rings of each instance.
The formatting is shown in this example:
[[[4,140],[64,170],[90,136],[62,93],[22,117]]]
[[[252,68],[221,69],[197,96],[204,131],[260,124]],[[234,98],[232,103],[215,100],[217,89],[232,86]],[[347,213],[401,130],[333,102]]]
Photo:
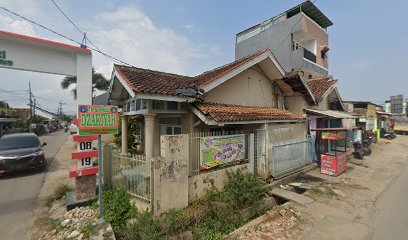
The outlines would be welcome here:
[[[122,153],[128,152],[129,118],[140,123],[140,154],[146,158],[160,156],[164,135],[189,134],[192,140],[251,132],[257,138],[251,145],[257,172],[268,177],[273,145],[304,141],[307,135],[305,116],[285,107],[285,95],[296,87],[285,75],[268,49],[193,77],[115,65],[109,101],[123,108]],[[194,173],[202,162],[196,146],[191,148]]]

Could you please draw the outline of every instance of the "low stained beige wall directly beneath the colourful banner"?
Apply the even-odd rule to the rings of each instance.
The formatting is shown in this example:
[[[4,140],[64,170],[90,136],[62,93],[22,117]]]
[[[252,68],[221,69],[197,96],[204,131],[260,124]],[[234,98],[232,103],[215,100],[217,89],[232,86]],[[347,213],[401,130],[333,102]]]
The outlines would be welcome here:
[[[226,171],[236,171],[238,169],[249,171],[249,163],[190,177],[188,179],[188,200],[194,201],[199,199],[204,196],[206,188],[211,188],[213,186],[218,190],[223,191],[225,181],[228,179]]]

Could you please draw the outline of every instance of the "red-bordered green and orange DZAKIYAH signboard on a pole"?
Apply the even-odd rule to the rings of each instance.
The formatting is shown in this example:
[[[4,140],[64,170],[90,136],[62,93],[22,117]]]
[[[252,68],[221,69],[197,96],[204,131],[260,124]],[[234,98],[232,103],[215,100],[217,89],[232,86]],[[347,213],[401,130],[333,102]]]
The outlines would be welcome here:
[[[79,135],[117,134],[119,127],[116,106],[78,106]]]

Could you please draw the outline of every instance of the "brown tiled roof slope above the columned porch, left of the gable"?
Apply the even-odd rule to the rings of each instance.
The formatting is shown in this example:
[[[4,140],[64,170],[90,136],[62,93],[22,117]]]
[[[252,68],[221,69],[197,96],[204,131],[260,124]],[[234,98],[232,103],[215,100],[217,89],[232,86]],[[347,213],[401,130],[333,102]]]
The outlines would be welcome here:
[[[177,74],[116,64],[114,67],[137,93],[177,95],[176,89],[187,87],[193,82],[191,77]]]

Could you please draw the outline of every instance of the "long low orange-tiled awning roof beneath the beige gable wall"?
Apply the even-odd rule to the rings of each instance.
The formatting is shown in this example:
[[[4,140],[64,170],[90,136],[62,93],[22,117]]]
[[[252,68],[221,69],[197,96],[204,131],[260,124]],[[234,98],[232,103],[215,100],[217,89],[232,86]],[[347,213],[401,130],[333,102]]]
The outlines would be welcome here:
[[[297,113],[270,107],[251,107],[220,103],[198,103],[196,108],[216,122],[240,122],[263,120],[304,120]]]

